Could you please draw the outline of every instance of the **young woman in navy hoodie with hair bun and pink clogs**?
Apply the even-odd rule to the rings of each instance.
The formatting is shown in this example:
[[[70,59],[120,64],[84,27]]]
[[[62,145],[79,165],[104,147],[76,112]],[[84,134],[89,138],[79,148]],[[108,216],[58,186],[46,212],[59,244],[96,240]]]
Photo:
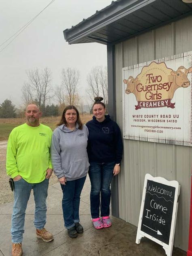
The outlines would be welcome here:
[[[100,229],[111,226],[110,184],[113,175],[120,171],[123,145],[119,126],[109,115],[105,115],[105,104],[101,102],[103,98],[96,97],[94,100],[94,116],[86,124],[89,130],[87,153],[90,162],[92,222],[96,229]]]

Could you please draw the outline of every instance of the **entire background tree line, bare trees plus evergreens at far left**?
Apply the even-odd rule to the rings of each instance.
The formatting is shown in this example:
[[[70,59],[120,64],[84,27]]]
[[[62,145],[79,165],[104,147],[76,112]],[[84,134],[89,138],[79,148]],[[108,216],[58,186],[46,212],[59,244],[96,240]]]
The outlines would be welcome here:
[[[96,96],[102,96],[104,103],[108,103],[107,67],[94,66],[87,75],[86,100],[79,94],[80,72],[75,68],[63,68],[61,83],[53,88],[52,72],[45,67],[42,70],[34,68],[26,70],[27,81],[21,88],[23,109],[34,103],[40,107],[44,116],[58,116],[66,105],[75,105],[83,113],[83,105],[89,107]],[[53,104],[52,102],[57,102]],[[0,104],[0,117],[12,118],[19,115],[11,100],[4,100]]]

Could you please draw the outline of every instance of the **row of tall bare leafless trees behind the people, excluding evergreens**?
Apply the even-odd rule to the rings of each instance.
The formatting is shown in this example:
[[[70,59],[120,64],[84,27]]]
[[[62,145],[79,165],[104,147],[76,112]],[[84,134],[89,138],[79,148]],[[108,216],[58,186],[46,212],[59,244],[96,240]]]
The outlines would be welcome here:
[[[37,102],[38,106],[45,108],[47,102],[55,100],[59,105],[90,104],[96,96],[102,96],[104,102],[108,102],[107,68],[95,66],[87,75],[87,102],[83,102],[79,94],[80,72],[75,68],[63,68],[61,71],[61,83],[55,89],[52,85],[52,73],[49,68],[26,71],[28,81],[22,87],[22,99],[25,105]],[[50,104],[49,104],[50,105]],[[91,105],[91,104],[90,104]]]

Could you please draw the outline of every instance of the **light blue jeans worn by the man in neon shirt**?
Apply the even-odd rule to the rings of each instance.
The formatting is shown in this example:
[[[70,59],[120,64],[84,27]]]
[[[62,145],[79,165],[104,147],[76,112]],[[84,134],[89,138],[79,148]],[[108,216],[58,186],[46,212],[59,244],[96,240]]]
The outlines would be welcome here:
[[[11,236],[13,243],[21,243],[23,240],[26,207],[31,190],[34,193],[35,216],[34,226],[42,229],[46,223],[46,199],[49,179],[40,183],[28,183],[24,179],[14,181],[14,205],[11,223]]]

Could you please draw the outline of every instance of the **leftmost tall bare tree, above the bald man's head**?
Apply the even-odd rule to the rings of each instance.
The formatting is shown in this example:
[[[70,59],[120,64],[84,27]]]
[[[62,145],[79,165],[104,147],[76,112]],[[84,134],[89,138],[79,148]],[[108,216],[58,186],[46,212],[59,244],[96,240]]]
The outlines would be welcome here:
[[[26,71],[28,82],[22,87],[22,97],[27,103],[29,100],[36,101],[38,106],[45,108],[45,103],[51,96],[52,75],[49,68],[39,71],[38,68]]]

